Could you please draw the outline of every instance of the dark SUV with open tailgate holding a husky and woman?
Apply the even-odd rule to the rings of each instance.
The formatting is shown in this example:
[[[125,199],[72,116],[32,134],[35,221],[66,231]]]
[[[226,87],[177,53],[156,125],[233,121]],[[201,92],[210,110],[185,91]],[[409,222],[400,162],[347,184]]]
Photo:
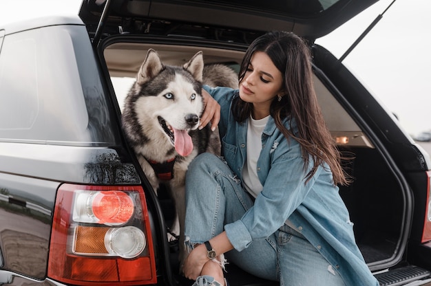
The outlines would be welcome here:
[[[381,285],[429,283],[430,157],[314,44],[376,1],[85,0],[79,17],[0,27],[0,285],[190,285],[167,240],[171,197],[125,142],[125,90],[149,48],[171,65],[201,50],[235,69],[267,30],[313,50],[326,124],[355,156],[340,193],[370,270]],[[235,265],[227,276],[277,285]]]

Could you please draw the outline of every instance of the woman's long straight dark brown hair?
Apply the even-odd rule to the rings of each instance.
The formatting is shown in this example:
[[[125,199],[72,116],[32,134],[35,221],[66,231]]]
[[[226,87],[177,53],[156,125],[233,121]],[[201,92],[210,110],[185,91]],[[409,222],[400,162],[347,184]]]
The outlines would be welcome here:
[[[333,173],[334,184],[347,185],[350,177],[341,167],[340,153],[335,140],[326,128],[317,102],[308,45],[291,32],[268,32],[258,37],[244,55],[238,75],[240,81],[244,78],[254,52],[265,52],[283,74],[285,96],[282,96],[280,102],[275,97],[270,113],[284,136],[295,138],[301,145],[304,170],[308,169],[308,157],[311,157],[314,164],[306,175],[306,181],[313,177],[319,165],[324,166],[326,163]],[[249,118],[252,110],[252,103],[236,98],[233,104],[235,120],[244,122]],[[290,129],[283,125],[284,118],[288,116],[295,120],[297,133],[293,133],[293,120],[291,120]]]

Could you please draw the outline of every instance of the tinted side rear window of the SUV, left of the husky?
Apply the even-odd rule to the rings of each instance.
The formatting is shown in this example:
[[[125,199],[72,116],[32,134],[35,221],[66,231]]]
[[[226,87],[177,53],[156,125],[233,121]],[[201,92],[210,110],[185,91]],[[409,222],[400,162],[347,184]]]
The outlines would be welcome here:
[[[83,26],[6,34],[0,51],[0,141],[116,145],[118,127],[100,76]]]

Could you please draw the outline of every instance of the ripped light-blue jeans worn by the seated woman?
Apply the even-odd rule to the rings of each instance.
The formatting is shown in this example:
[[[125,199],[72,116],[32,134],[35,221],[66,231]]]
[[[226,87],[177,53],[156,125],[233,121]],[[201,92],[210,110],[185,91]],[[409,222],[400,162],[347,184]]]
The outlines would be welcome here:
[[[252,206],[253,199],[222,159],[199,155],[186,177],[186,248],[219,234],[224,224],[241,219]],[[345,285],[313,245],[288,225],[241,252],[231,250],[225,255],[229,263],[280,285]],[[226,269],[229,272],[229,265]]]

